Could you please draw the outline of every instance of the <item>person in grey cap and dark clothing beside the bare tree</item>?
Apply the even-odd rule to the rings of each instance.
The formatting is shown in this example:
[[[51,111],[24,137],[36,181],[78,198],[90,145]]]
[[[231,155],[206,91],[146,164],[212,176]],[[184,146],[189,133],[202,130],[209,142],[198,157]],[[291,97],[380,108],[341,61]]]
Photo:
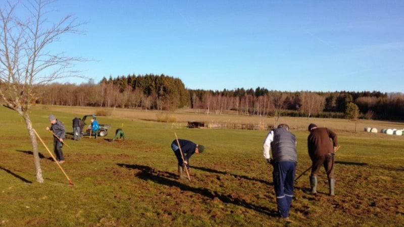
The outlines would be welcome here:
[[[66,136],[65,126],[55,118],[53,115],[49,115],[49,121],[51,122],[51,127],[46,127],[46,130],[51,130],[54,133],[54,152],[56,155],[56,160],[59,164],[65,162],[65,157],[63,156],[63,140]],[[59,138],[58,138],[59,137]]]

